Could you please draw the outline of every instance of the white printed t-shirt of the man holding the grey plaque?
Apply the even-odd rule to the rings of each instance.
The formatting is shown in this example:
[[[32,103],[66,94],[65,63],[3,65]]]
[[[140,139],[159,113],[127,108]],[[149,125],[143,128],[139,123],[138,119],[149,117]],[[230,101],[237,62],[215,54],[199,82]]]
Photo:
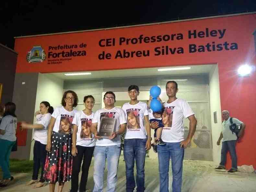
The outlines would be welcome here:
[[[121,108],[114,107],[112,109],[99,109],[96,111],[94,118],[92,120],[92,123],[97,123],[97,128],[99,132],[100,127],[100,119],[101,118],[115,118],[115,128],[114,132],[118,131],[120,128],[120,125],[126,123],[126,118],[124,111]],[[120,135],[118,135],[116,138],[110,140],[108,138],[101,138],[96,140],[96,146],[111,146],[111,145],[120,145]]]

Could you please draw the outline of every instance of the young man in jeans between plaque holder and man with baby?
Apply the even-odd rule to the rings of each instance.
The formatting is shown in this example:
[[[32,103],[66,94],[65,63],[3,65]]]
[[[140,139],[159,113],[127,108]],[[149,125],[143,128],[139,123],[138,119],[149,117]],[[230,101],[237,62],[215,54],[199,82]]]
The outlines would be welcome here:
[[[131,101],[123,104],[122,109],[127,118],[127,130],[124,137],[123,155],[126,169],[126,192],[133,192],[134,159],[136,162],[137,192],[145,190],[145,156],[146,150],[151,148],[150,124],[148,120],[147,104],[137,100],[140,94],[137,85],[128,87],[128,95]]]

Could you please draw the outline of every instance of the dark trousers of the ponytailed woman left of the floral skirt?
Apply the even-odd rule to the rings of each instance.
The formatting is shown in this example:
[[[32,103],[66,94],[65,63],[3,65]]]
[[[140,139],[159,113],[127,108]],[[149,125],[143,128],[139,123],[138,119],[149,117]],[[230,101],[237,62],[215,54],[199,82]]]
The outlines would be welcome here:
[[[34,165],[33,165],[33,175],[32,175],[32,180],[37,180],[38,179],[38,173],[39,169],[41,166],[41,178],[40,182],[44,182],[44,177],[43,177],[43,171],[44,171],[44,164],[45,164],[45,159],[47,155],[47,151],[45,150],[46,145],[40,143],[39,141],[35,141],[34,144]]]

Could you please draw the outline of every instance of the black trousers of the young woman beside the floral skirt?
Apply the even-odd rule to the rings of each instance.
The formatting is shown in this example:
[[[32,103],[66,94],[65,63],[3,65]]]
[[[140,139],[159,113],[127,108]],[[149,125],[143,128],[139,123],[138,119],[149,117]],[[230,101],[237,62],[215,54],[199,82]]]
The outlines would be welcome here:
[[[94,151],[94,147],[83,147],[80,145],[76,145],[77,154],[73,156],[73,170],[72,170],[72,179],[71,179],[71,192],[77,192],[78,190],[78,174],[80,172],[81,163],[83,160],[82,165],[82,175],[80,181],[79,191],[84,192],[86,190],[87,178],[89,167],[92,160],[92,155]]]

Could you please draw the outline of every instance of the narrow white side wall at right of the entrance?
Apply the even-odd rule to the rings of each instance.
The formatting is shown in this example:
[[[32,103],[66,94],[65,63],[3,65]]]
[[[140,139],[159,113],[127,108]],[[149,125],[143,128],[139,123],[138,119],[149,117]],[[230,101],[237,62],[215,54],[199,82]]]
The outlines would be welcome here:
[[[221,132],[221,106],[220,106],[220,87],[218,65],[214,65],[209,74],[210,108],[212,122],[212,141],[213,141],[213,161],[216,165],[220,163],[221,145],[217,145],[217,140]],[[214,123],[213,113],[217,111],[217,123]]]

